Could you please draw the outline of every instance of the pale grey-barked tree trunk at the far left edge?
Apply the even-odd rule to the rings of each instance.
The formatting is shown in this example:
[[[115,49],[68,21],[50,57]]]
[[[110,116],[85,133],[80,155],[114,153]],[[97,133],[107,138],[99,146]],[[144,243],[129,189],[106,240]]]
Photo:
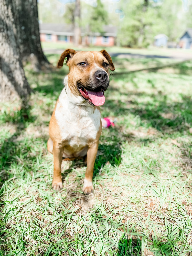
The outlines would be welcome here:
[[[14,0],[0,0],[0,101],[14,101],[30,93],[15,38],[15,12]]]

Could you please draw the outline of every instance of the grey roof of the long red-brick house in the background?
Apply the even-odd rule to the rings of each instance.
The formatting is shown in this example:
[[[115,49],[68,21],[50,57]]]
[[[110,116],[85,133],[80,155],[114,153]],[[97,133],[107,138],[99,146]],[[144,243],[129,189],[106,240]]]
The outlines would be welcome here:
[[[53,23],[43,23],[39,24],[39,30],[41,34],[55,34],[55,35],[65,35],[65,36],[73,36],[73,26],[72,24],[53,24]],[[104,36],[113,36],[116,37],[117,28],[111,25],[103,26]],[[82,31],[81,36],[92,35],[92,36],[100,36],[101,33],[87,33],[87,31]]]

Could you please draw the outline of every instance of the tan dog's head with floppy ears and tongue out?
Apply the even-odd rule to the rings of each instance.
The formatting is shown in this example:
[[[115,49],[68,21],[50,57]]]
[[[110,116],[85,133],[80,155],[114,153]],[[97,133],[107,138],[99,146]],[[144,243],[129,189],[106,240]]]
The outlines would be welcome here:
[[[109,86],[109,69],[115,70],[110,55],[102,51],[65,50],[59,59],[58,68],[64,59],[69,66],[68,86],[76,96],[90,105],[100,106],[105,102],[104,91]]]

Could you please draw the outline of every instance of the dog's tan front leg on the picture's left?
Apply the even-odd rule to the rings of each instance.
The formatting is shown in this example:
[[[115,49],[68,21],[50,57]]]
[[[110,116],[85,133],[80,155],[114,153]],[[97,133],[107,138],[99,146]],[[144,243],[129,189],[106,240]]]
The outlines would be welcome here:
[[[52,188],[55,190],[60,190],[60,188],[63,188],[63,183],[61,179],[62,154],[63,154],[63,147],[59,147],[58,144],[53,143],[54,171],[53,171]]]

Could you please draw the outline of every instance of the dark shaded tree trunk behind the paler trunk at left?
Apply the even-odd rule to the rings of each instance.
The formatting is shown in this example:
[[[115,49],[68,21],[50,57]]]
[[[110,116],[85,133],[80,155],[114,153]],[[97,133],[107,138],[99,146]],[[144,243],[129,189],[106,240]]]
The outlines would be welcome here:
[[[15,0],[15,23],[17,41],[23,61],[32,62],[34,69],[48,68],[50,63],[45,57],[40,42],[37,0]]]

